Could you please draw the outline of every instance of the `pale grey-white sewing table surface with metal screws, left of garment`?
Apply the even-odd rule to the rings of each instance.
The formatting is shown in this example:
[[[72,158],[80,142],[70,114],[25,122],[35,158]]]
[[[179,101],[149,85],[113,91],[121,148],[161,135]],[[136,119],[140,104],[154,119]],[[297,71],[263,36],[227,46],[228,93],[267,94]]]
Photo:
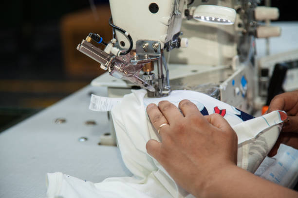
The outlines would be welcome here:
[[[118,148],[98,145],[109,132],[108,118],[88,109],[90,92],[106,95],[105,88],[87,86],[0,133],[0,198],[45,197],[47,172],[93,182],[131,175]],[[56,124],[58,117],[66,122]],[[96,125],[85,125],[87,120]],[[79,142],[82,136],[88,140]]]

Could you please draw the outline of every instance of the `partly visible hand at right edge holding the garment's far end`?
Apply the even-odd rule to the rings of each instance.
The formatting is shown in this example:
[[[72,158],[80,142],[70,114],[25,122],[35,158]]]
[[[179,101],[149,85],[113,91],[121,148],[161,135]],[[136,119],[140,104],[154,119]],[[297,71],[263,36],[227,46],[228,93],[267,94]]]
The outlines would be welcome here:
[[[298,149],[298,90],[274,97],[268,107],[268,113],[275,110],[285,111],[288,119],[284,121],[279,138],[268,154],[269,157],[277,154],[280,144]]]

